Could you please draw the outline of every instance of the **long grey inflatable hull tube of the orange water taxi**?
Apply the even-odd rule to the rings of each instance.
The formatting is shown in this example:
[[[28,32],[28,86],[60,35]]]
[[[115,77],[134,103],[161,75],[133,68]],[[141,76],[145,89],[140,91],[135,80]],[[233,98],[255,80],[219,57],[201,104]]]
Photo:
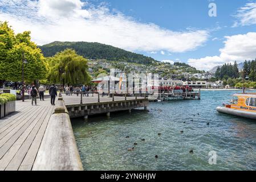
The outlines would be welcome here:
[[[243,118],[256,119],[256,113],[253,113],[253,112],[250,112],[250,111],[230,109],[230,108],[227,108],[227,107],[217,107],[216,110],[219,113],[236,115],[238,117],[243,117]]]

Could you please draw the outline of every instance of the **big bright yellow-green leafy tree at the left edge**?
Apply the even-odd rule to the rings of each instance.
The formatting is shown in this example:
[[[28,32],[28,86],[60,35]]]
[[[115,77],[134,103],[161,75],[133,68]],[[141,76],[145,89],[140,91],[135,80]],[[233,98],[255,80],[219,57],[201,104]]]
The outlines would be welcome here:
[[[15,35],[7,22],[1,22],[0,35],[0,80],[2,82],[22,81],[23,55],[27,60],[24,67],[25,81],[35,82],[46,77],[46,61],[40,49],[31,42],[30,31]]]

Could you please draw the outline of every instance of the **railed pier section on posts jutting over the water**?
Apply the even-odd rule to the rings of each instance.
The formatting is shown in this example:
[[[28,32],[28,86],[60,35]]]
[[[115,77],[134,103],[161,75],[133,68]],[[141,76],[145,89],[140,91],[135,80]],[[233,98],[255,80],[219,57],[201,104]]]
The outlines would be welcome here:
[[[88,97],[84,96],[83,93],[79,94],[62,94],[64,103],[67,107],[70,118],[84,117],[88,118],[89,115],[106,114],[108,117],[112,112],[128,110],[131,112],[132,109],[144,107],[147,110],[148,99],[138,96],[135,97],[124,97],[121,96],[100,96],[96,93],[88,94]]]

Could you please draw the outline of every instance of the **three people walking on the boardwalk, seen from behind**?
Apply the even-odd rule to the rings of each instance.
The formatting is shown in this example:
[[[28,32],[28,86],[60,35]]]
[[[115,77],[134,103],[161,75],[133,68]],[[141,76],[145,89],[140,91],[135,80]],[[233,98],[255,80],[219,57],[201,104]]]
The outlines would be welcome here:
[[[42,101],[42,100],[44,101],[45,90],[46,90],[46,88],[44,88],[43,85],[40,85],[38,89],[35,88],[35,85],[31,86],[30,96],[31,96],[31,104],[32,105],[34,105],[34,102],[36,105],[36,97],[38,97],[38,94],[40,97],[40,101]],[[52,84],[48,90],[49,90],[49,94],[51,96],[51,105],[55,105],[55,98],[56,98],[56,96],[58,96],[58,94],[57,94],[58,88],[57,88],[57,86],[55,86],[55,84]]]

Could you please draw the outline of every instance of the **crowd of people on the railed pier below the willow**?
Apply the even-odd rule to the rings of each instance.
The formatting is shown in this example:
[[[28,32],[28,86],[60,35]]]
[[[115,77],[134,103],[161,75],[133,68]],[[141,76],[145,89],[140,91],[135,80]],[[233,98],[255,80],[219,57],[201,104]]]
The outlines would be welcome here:
[[[83,96],[88,97],[89,93],[92,93],[92,96],[94,96],[94,92],[97,91],[97,88],[95,86],[88,86],[88,85],[83,85],[83,86],[76,86],[75,88],[70,85],[64,88],[64,93],[66,93],[67,96],[72,96],[72,94],[77,94],[79,95],[80,92],[83,92]]]

